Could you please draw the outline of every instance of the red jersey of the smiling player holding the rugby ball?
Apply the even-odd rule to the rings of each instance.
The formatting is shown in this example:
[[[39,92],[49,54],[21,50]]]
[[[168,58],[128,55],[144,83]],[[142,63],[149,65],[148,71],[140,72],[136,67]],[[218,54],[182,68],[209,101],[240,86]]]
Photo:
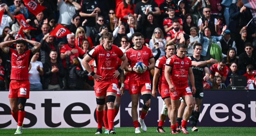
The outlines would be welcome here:
[[[136,50],[133,47],[128,49],[126,52],[126,57],[128,62],[130,63],[130,67],[134,67],[137,62],[143,62],[146,66],[148,66],[149,59],[153,58],[153,52],[149,47],[142,46],[141,49]],[[132,71],[130,75],[130,80],[149,80],[149,71],[147,70],[144,73],[137,73]]]

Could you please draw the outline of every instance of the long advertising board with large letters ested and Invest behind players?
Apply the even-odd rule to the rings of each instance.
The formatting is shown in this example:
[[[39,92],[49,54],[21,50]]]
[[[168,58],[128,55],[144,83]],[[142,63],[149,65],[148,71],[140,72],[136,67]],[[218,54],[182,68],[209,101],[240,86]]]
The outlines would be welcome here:
[[[159,94],[158,94],[159,95]],[[256,91],[204,91],[201,114],[197,126],[256,126]],[[0,128],[16,128],[11,115],[8,91],[0,91]],[[140,96],[138,113],[143,100]],[[151,98],[147,126],[156,127],[163,106],[160,96]],[[115,118],[116,127],[133,127],[131,97],[125,91]],[[94,91],[30,91],[27,100],[24,127],[65,128],[97,127],[96,98]],[[188,126],[190,123],[188,123]],[[169,127],[167,118],[164,126]]]

